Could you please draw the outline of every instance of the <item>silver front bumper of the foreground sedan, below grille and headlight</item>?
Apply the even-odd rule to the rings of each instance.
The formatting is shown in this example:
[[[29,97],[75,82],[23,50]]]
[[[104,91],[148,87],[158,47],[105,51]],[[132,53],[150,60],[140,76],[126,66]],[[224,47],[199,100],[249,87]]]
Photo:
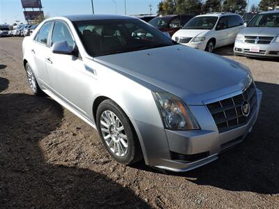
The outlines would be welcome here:
[[[262,91],[257,89],[257,108],[248,123],[227,132],[218,132],[216,123],[206,106],[190,106],[201,130],[163,130],[135,121],[146,164],[169,171],[189,171],[218,159],[218,154],[239,144],[252,130],[257,120]],[[174,156],[175,155],[175,156]],[[188,157],[188,161],[181,157]]]

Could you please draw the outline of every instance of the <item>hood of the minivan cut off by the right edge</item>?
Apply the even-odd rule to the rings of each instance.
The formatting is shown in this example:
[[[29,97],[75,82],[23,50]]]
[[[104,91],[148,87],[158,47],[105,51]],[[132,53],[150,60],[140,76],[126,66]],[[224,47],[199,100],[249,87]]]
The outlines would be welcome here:
[[[244,36],[278,36],[279,28],[271,27],[246,27],[243,29]]]

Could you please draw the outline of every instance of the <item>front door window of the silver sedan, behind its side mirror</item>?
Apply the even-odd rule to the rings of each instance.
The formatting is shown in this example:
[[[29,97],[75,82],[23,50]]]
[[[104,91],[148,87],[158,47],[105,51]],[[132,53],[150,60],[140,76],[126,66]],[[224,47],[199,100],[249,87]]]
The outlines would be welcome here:
[[[53,32],[52,32],[52,42],[51,45],[54,44],[54,42],[61,42],[66,41],[68,43],[68,46],[73,49],[75,42],[70,35],[70,31],[66,24],[63,22],[55,22]]]

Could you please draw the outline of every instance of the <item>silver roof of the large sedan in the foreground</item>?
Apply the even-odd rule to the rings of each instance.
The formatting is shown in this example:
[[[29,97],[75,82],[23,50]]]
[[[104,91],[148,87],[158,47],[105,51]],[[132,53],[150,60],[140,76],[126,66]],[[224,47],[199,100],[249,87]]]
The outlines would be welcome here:
[[[125,16],[125,15],[66,15],[68,20],[75,21],[84,21],[84,20],[129,20],[136,19],[136,17]],[[55,19],[55,17],[54,17]]]

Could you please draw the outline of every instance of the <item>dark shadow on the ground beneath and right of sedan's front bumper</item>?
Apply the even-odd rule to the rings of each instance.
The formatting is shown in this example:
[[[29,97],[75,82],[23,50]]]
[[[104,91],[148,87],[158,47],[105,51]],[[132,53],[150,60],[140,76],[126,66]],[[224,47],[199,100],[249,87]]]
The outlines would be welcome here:
[[[279,192],[279,85],[256,82],[263,92],[257,123],[246,139],[219,159],[204,167],[185,173],[165,172],[181,176],[197,185],[211,185],[230,191],[278,194]],[[151,172],[144,162],[137,169]],[[164,173],[164,171],[163,171]]]

